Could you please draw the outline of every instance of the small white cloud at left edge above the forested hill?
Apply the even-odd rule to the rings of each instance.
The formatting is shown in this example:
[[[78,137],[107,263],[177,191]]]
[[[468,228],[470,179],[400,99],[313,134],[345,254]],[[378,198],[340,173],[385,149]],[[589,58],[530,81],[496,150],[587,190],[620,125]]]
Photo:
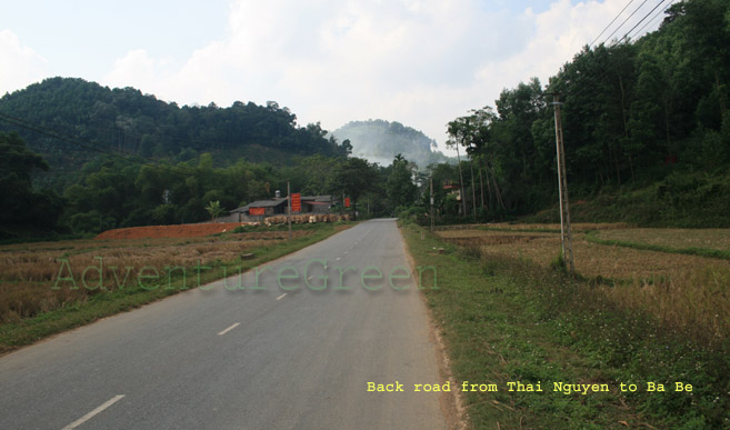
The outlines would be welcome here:
[[[10,30],[0,31],[0,97],[7,91],[28,87],[47,74],[46,59],[20,43]]]

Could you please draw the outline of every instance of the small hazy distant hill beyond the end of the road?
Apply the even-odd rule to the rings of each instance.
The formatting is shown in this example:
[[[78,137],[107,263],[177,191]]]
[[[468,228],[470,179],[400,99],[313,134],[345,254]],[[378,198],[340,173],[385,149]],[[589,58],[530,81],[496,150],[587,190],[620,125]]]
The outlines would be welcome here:
[[[332,136],[339,141],[349,140],[353,156],[381,166],[390,164],[399,153],[420,169],[448,160],[436,151],[433,139],[397,121],[352,121],[332,131]]]

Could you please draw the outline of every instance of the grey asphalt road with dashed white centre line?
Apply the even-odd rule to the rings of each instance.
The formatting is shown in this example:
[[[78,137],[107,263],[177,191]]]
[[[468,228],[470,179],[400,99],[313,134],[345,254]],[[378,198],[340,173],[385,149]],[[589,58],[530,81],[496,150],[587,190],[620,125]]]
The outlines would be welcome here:
[[[439,394],[413,391],[439,377],[417,281],[390,278],[406,267],[373,220],[259,268],[257,290],[252,271],[8,354],[0,429],[443,429]]]

